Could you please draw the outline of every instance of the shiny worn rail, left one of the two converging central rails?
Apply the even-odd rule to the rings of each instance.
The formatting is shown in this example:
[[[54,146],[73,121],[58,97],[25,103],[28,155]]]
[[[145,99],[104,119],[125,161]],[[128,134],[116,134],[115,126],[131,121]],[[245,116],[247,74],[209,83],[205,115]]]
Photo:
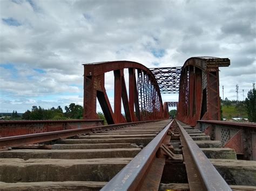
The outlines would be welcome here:
[[[156,153],[167,135],[172,123],[173,121],[166,125],[166,127],[101,190],[109,191],[139,189],[139,183],[141,183],[143,180],[147,169],[150,167],[154,157],[156,157]]]

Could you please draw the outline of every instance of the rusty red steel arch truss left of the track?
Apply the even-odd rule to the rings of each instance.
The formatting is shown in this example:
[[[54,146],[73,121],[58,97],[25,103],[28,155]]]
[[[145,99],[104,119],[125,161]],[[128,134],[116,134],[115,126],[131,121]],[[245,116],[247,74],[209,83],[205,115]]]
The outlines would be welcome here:
[[[125,68],[129,70],[129,95],[125,84]],[[111,71],[114,75],[114,110],[105,89],[105,73]],[[84,119],[98,118],[97,98],[108,124],[164,118],[163,102],[156,78],[149,68],[137,62],[109,61],[84,64]],[[122,115],[121,102],[125,117]]]

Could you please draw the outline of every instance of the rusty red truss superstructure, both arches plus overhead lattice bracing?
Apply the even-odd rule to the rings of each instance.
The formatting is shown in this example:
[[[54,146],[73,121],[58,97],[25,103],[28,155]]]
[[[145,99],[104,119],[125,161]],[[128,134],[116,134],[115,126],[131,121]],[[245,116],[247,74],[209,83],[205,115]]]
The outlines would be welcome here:
[[[98,119],[98,99],[108,124],[168,118],[168,107],[177,107],[177,119],[191,126],[200,119],[220,120],[219,66],[229,64],[229,59],[215,57],[193,57],[182,67],[150,69],[131,61],[85,64],[84,119]],[[114,75],[113,108],[105,89],[107,72]],[[163,103],[161,94],[169,93],[179,93],[179,101]]]

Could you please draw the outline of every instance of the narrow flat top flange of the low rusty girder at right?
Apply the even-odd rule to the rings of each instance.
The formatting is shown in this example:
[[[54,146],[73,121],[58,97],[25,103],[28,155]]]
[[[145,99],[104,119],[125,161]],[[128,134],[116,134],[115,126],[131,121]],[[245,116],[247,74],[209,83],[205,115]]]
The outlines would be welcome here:
[[[254,128],[254,129],[256,129],[256,123],[225,122],[225,121],[214,121],[214,120],[198,120],[197,122],[207,123],[207,124],[212,124],[212,125],[235,126],[238,128]]]

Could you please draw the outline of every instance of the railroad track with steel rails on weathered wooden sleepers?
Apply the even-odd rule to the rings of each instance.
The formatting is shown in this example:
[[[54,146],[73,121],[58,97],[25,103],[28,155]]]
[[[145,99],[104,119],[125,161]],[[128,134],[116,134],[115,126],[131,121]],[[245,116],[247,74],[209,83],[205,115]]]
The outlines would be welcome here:
[[[5,137],[0,148],[0,190],[256,189],[255,161],[178,121]]]

